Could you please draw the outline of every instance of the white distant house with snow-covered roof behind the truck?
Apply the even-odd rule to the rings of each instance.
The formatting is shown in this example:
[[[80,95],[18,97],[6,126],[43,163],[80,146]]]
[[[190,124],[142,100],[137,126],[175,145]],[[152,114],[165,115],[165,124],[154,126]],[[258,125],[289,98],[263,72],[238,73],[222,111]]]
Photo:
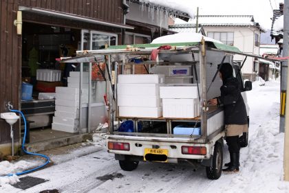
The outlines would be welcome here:
[[[200,15],[198,23],[206,36],[238,47],[242,52],[259,54],[260,34],[263,30],[252,15]],[[235,56],[234,60],[241,65],[244,56]],[[247,58],[242,67],[244,77],[255,80],[257,67],[257,58]]]

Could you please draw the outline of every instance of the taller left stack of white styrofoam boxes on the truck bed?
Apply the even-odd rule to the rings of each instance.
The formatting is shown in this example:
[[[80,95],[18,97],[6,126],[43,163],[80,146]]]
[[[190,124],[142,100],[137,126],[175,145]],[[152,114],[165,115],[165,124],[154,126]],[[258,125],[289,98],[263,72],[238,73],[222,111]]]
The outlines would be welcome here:
[[[127,74],[118,76],[118,110],[121,117],[162,116],[160,85],[163,74]]]

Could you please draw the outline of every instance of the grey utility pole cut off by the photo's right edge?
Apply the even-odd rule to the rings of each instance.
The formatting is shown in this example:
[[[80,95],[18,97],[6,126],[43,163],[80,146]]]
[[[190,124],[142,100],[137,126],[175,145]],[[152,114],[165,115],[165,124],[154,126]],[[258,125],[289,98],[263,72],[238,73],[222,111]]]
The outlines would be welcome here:
[[[289,56],[288,53],[288,43],[289,43],[289,0],[284,1],[284,24],[283,24],[283,56]],[[285,67],[284,67],[285,66]],[[282,63],[282,70],[286,69],[286,72],[282,72],[282,76],[287,78],[289,82],[288,71],[288,60]],[[286,91],[289,91],[289,84],[286,85]],[[282,84],[281,84],[282,89]],[[286,98],[286,104],[289,104],[289,98]],[[281,118],[281,117],[280,117]],[[280,119],[281,121],[281,119]],[[281,126],[281,122],[280,122]],[[281,127],[280,127],[281,130]],[[289,108],[286,108],[285,113],[285,128],[284,128],[284,157],[283,157],[283,167],[284,167],[284,181],[289,181]]]

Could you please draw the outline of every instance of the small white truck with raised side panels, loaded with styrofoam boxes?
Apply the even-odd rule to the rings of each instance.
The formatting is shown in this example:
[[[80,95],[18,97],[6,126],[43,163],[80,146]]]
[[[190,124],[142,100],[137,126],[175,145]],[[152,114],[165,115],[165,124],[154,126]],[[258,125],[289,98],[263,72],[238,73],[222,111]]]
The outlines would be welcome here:
[[[64,61],[105,62],[105,71],[99,70],[107,80],[107,151],[114,153],[122,170],[135,170],[139,161],[188,161],[205,166],[208,179],[219,179],[226,136],[224,111],[208,104],[220,96],[217,65],[233,65],[246,103],[252,83],[244,82],[241,68],[245,57],[261,56],[244,54],[201,34],[193,33],[186,42],[180,36],[162,36],[151,44],[78,51],[76,57]],[[233,62],[236,54],[245,58],[241,65]],[[239,140],[242,147],[247,146],[248,133]]]

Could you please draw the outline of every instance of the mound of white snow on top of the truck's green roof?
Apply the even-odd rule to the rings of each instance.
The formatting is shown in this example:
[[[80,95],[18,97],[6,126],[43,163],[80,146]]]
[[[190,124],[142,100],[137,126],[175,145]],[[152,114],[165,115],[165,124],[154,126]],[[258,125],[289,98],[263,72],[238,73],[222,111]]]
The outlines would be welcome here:
[[[159,38],[154,39],[151,43],[200,42],[202,40],[202,37],[204,37],[205,41],[211,41],[211,42],[215,42],[215,43],[222,43],[220,41],[214,40],[213,38],[208,38],[206,36],[203,36],[202,34],[193,33],[193,32],[183,32],[183,33],[178,33],[178,34],[161,36]]]

